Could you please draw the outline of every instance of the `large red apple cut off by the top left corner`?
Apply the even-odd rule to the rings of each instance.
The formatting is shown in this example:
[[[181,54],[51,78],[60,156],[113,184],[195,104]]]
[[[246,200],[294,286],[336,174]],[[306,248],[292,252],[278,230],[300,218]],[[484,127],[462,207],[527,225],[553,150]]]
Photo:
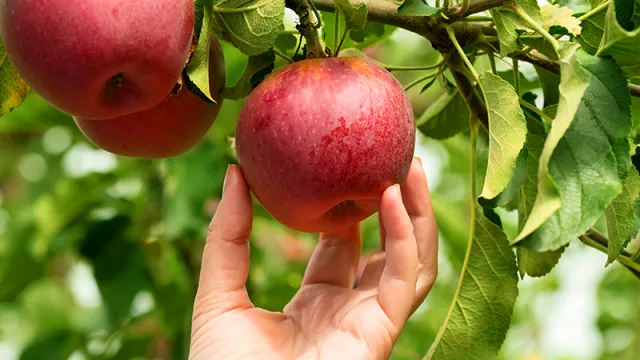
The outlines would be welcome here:
[[[94,119],[161,102],[193,26],[193,0],[0,0],[0,36],[18,73],[59,110]]]

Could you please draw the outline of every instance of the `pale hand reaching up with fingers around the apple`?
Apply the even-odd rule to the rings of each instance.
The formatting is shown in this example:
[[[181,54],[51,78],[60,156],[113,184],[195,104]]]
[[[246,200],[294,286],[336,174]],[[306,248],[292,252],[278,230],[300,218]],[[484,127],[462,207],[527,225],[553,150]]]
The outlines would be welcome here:
[[[242,171],[231,166],[209,226],[189,359],[388,359],[437,276],[437,227],[419,159],[402,187],[383,193],[380,250],[362,273],[359,225],[320,234],[282,312],[256,308],[247,294],[252,216]]]

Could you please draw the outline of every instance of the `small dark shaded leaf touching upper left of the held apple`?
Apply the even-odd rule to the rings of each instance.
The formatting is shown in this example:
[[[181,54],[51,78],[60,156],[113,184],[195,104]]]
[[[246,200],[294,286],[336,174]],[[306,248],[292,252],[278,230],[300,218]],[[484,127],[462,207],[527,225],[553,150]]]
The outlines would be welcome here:
[[[249,56],[249,61],[242,77],[233,87],[225,88],[222,92],[222,97],[231,100],[247,97],[264,80],[265,76],[273,71],[275,61],[276,55],[273,51]]]

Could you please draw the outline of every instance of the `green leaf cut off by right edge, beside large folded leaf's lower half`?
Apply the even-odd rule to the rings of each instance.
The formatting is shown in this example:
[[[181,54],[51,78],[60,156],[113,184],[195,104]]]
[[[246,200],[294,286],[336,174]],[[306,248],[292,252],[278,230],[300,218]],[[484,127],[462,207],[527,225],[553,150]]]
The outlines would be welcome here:
[[[615,198],[604,212],[609,234],[609,257],[607,265],[620,255],[625,246],[638,233],[634,207],[640,196],[640,175],[631,166],[629,176],[624,181],[622,193]]]

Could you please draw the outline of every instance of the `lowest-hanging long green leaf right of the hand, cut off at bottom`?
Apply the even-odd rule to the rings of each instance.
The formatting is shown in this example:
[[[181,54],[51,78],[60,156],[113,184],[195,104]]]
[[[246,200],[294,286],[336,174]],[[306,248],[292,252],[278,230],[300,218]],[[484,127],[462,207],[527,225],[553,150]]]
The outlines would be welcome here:
[[[515,254],[502,230],[476,210],[473,241],[451,308],[426,359],[496,358],[518,296]]]

